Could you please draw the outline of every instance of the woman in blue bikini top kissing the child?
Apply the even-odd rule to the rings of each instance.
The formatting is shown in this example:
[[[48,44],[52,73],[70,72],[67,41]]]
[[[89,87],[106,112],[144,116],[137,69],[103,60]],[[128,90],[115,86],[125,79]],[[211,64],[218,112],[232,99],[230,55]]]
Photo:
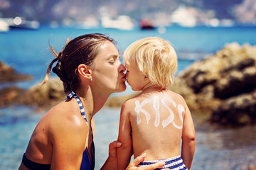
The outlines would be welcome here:
[[[125,67],[113,40],[102,34],[81,35],[67,42],[50,63],[50,69],[63,81],[68,97],[46,113],[36,126],[19,169],[94,169],[93,115],[100,111],[110,94],[126,89]],[[109,157],[102,169],[117,169],[116,148],[110,144]],[[137,168],[145,155],[135,159],[127,170]],[[156,169],[163,163],[147,166]]]

